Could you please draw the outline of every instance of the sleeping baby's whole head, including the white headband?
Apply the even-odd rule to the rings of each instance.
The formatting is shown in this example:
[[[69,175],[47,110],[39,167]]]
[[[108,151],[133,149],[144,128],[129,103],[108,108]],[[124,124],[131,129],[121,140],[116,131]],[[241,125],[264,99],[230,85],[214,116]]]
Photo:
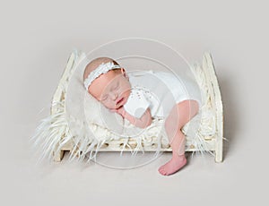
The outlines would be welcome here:
[[[99,57],[86,65],[83,73],[85,89],[105,107],[123,106],[131,90],[126,71],[108,57]]]

